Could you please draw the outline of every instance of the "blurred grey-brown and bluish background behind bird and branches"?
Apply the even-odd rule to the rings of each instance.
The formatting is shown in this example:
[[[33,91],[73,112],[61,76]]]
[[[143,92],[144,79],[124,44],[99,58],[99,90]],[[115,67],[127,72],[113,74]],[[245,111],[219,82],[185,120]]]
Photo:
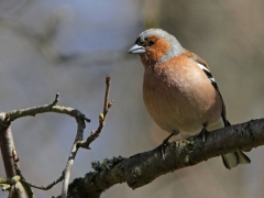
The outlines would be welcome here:
[[[98,125],[105,77],[112,77],[114,105],[101,136],[80,150],[72,180],[92,170],[91,162],[131,156],[160,145],[167,133],[147,114],[142,99],[143,67],[128,55],[148,28],[174,34],[210,66],[226,101],[228,119],[240,123],[264,112],[264,1],[241,0],[9,0],[0,1],[1,111],[50,103],[79,109]],[[46,113],[12,123],[25,178],[46,186],[61,176],[75,134],[73,118]],[[132,190],[116,185],[107,197],[261,198],[264,196],[264,147],[248,155],[251,165],[228,170],[221,158],[164,175]],[[2,163],[0,175],[4,176]],[[37,198],[61,194],[62,184]],[[8,197],[0,191],[0,197]]]

